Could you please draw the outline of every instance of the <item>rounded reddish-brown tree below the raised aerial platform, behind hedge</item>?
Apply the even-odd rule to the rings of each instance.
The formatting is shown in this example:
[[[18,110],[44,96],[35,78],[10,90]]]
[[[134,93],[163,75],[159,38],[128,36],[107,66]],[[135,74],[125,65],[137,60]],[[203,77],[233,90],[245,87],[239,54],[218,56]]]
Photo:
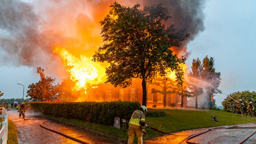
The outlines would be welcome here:
[[[56,78],[46,77],[44,81],[38,81],[28,86],[27,96],[33,101],[48,101],[58,99],[58,91],[55,85]]]

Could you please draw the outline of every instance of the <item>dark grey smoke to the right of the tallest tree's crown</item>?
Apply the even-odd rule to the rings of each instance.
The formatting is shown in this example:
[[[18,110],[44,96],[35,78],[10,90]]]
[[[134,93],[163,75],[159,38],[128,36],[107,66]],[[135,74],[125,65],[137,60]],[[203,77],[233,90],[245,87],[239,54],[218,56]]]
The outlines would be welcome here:
[[[186,44],[193,40],[199,32],[204,30],[204,0],[143,0],[145,6],[157,5],[163,3],[163,7],[168,9],[169,15],[172,17],[167,24],[174,24],[176,29],[186,29],[190,34],[183,47],[176,48],[178,53],[186,53]]]

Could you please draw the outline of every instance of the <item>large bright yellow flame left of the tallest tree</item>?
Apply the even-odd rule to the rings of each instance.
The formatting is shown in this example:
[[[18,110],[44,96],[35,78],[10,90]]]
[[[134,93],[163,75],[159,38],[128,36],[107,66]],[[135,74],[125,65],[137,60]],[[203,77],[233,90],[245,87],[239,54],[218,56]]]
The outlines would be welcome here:
[[[59,46],[56,46],[53,51],[58,53],[65,66],[68,66],[66,71],[70,73],[70,79],[76,83],[73,90],[85,89],[86,93],[87,88],[95,88],[106,80],[105,68],[99,63],[92,62],[92,57],[80,55],[80,58],[76,58]]]

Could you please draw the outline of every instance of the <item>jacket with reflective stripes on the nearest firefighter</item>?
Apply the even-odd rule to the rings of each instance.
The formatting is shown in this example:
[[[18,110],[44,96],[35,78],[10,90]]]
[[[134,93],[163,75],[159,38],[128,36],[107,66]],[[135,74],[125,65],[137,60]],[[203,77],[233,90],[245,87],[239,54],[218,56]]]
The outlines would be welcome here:
[[[129,122],[129,125],[130,124],[141,126],[141,130],[144,131],[145,130],[145,114],[144,114],[144,112],[142,112],[140,110],[134,111],[132,114],[132,117],[130,119],[130,122]]]

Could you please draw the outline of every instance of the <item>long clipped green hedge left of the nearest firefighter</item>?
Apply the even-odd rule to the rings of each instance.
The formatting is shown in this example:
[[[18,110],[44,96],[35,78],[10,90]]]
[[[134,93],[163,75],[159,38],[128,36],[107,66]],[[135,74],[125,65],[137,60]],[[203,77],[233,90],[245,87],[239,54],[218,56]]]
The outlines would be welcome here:
[[[26,103],[33,111],[43,114],[78,119],[102,125],[113,125],[114,117],[130,119],[139,102],[30,102]]]

